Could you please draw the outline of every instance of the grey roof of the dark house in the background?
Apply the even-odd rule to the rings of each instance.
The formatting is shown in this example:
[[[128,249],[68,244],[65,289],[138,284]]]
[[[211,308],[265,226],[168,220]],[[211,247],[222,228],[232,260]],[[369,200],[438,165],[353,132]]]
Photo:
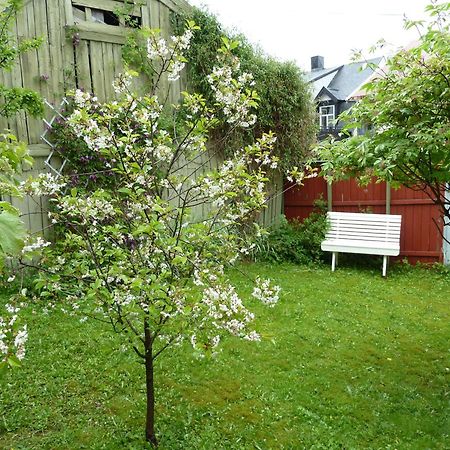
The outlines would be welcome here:
[[[343,64],[330,69],[315,69],[305,74],[307,81],[313,84],[314,97],[317,98],[323,89],[337,100],[348,100],[358,92],[374,73],[371,65],[378,66],[383,58],[373,58],[364,62]],[[369,64],[367,64],[369,63]]]

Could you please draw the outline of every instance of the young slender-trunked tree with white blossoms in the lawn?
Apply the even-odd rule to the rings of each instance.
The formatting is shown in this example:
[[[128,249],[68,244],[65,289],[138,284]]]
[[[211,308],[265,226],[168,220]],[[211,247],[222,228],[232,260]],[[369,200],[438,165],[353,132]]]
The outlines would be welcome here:
[[[208,77],[214,105],[187,92],[179,105],[161,100],[168,96],[160,82],[180,76],[195,29],[189,23],[170,41],[149,34],[154,85],[148,95],[133,92],[131,73],[115,82],[116,101],[100,104],[89,93],[74,93],[69,127],[104,158],[113,187],[63,193],[48,177],[39,185],[53,196],[51,218],[65,232],[50,250],[51,274],[38,287],[60,296],[82,320],[109,322],[143,360],[146,439],[153,445],[156,358],[184,340],[205,355],[217,351],[224,335],[260,339],[225,268],[249,251],[260,231],[254,219],[266,201],[267,173],[277,166],[275,137],[263,135],[211,168],[208,133],[220,117],[250,127],[258,97],[252,76],[239,73],[234,43],[224,41]],[[193,213],[198,205],[205,205],[204,214]],[[274,306],[279,288],[257,279],[253,295]]]

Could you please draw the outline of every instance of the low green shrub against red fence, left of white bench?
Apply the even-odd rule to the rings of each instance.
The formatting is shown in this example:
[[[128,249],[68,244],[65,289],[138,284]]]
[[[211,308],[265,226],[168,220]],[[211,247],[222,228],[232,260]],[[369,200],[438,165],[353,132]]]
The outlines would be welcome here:
[[[318,200],[315,210],[303,221],[279,222],[259,238],[252,257],[255,261],[317,263],[323,260],[320,243],[327,231],[326,203]]]

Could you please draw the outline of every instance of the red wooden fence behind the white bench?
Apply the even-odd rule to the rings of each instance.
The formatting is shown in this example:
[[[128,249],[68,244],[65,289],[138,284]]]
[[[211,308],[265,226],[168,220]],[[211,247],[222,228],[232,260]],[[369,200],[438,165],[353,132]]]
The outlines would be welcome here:
[[[288,187],[288,186],[286,186]],[[371,183],[360,187],[354,180],[333,183],[331,189],[333,211],[386,212],[385,183]],[[305,180],[302,187],[288,189],[284,195],[284,214],[288,219],[305,219],[313,210],[314,201],[322,195],[328,200],[327,183],[321,178]],[[423,192],[406,187],[390,189],[390,213],[402,216],[399,259],[410,263],[442,262],[442,221],[438,208]],[[433,220],[434,219],[434,220]]]

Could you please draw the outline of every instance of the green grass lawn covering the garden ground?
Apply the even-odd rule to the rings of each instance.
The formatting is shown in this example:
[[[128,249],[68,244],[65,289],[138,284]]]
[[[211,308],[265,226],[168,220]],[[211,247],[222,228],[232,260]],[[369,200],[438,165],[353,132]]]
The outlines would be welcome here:
[[[272,277],[282,301],[251,302],[262,342],[161,357],[161,449],[450,448],[448,275],[242,269]],[[28,322],[24,367],[0,381],[0,448],[145,448],[143,367],[120,338],[58,312]]]

